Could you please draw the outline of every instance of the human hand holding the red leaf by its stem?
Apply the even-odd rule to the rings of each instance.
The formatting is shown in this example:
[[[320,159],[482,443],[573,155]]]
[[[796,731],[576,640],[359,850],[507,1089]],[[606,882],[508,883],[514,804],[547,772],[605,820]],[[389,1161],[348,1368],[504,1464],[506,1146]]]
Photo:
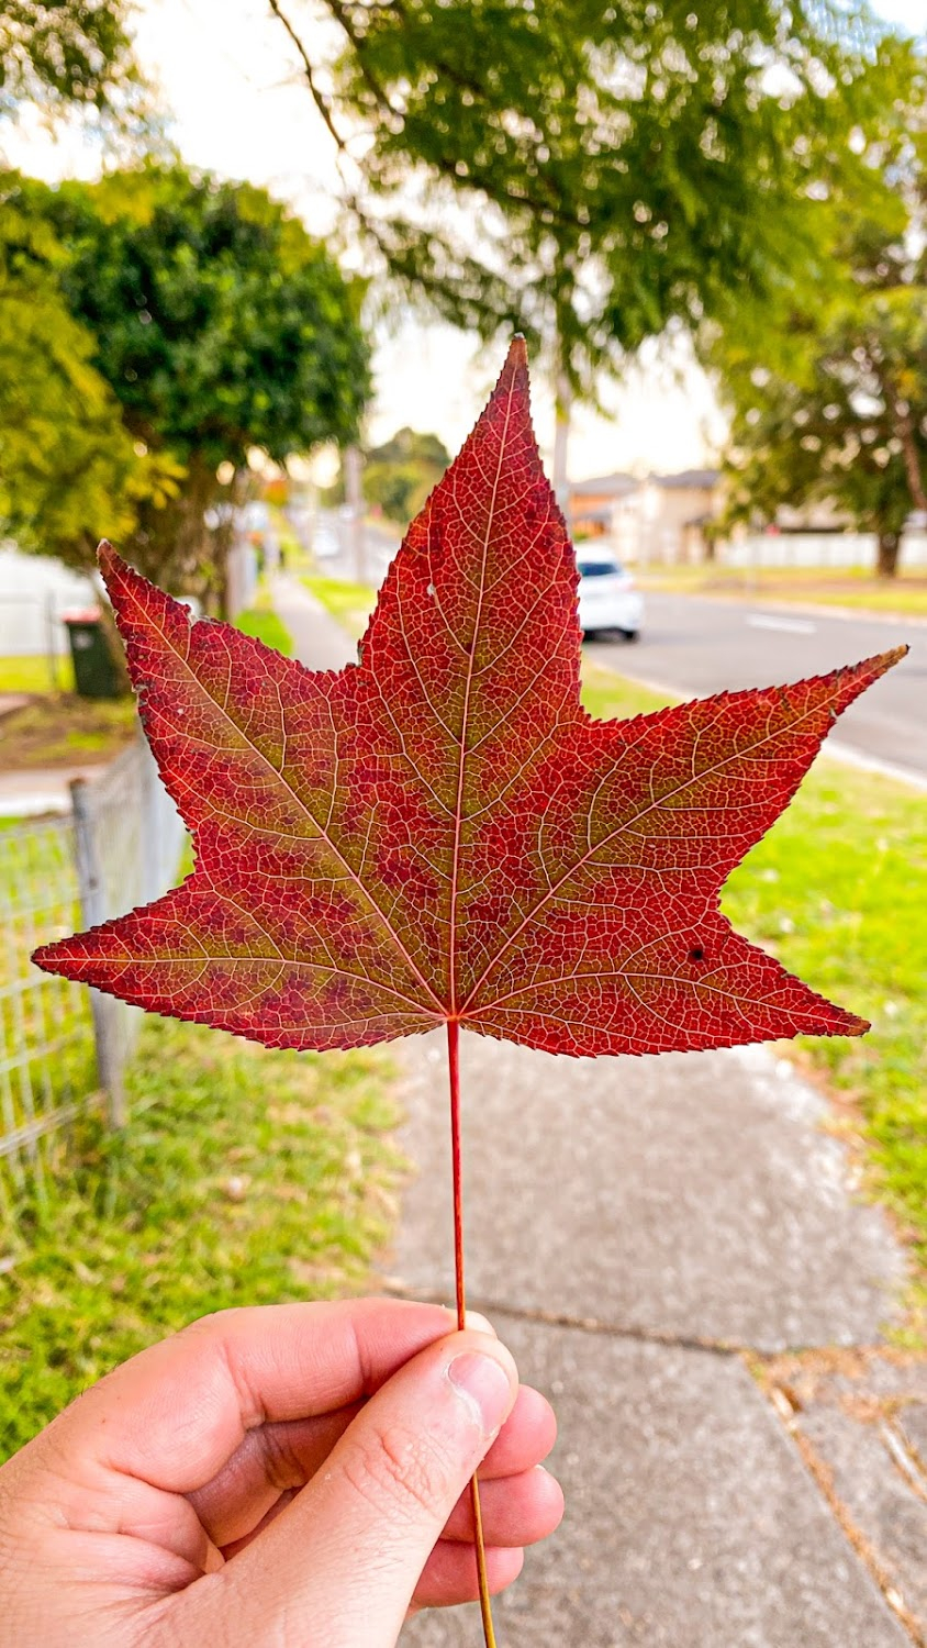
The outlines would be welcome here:
[[[481,1460],[509,1585],[561,1516],[555,1421],[489,1328],[451,1328],[227,1310],[107,1374],[0,1470],[0,1645],[394,1648],[410,1608],[476,1597]]]

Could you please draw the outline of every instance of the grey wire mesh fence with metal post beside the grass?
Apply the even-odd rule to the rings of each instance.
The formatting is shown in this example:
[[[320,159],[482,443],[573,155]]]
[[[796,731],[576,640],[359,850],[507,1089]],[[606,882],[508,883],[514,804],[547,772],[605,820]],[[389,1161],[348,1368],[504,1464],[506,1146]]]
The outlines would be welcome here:
[[[36,944],[122,915],[176,878],[184,827],[148,747],[76,783],[71,812],[0,829],[0,1195],[41,1195],[63,1129],[87,1107],[123,1119],[140,1010],[40,972]]]

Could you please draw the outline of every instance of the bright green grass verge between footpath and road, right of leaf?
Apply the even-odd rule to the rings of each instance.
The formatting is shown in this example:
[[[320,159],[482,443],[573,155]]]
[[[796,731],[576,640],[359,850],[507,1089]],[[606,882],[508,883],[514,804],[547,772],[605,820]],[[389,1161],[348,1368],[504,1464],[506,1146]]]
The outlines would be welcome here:
[[[667,699],[586,666],[594,715]],[[848,1101],[871,1183],[914,1236],[927,1277],[927,809],[924,796],[820,760],[769,834],[728,880],[721,908],[748,938],[841,1007],[863,1038],[800,1038],[810,1070]],[[924,1294],[922,1294],[924,1297]]]

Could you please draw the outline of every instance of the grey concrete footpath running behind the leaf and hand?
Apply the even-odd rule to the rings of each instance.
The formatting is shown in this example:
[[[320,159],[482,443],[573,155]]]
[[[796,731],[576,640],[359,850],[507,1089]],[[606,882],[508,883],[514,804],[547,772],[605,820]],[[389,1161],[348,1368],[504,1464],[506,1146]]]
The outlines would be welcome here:
[[[282,583],[296,654],[352,658]],[[443,1038],[397,1053],[417,1177],[387,1285],[451,1302]],[[557,1407],[568,1505],[499,1648],[924,1643],[927,1368],[881,1341],[902,1254],[825,1103],[764,1048],[461,1056],[469,1304]],[[476,1608],[403,1633],[481,1641]]]

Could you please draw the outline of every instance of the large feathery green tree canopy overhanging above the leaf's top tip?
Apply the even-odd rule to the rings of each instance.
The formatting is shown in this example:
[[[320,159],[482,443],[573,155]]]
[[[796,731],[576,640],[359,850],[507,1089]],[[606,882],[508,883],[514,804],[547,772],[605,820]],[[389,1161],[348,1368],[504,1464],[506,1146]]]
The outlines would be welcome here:
[[[333,74],[286,0],[268,5],[392,274],[484,336],[545,341],[555,485],[571,397],[672,318],[790,279],[822,176],[856,166],[876,31],[840,5],[323,0],[344,41]]]

